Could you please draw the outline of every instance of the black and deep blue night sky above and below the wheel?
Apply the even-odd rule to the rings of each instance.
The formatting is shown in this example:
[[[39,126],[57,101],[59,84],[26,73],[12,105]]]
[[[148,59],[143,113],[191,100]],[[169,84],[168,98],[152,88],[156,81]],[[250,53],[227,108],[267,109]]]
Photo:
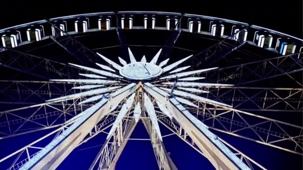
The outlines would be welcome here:
[[[78,0],[77,0],[78,1]],[[274,29],[286,34],[290,34],[299,38],[303,36],[303,14],[302,0],[270,0],[263,2],[262,0],[252,0],[247,3],[246,0],[228,0],[222,1],[197,0],[189,2],[188,0],[180,0],[179,2],[155,2],[141,0],[136,2],[118,2],[104,0],[83,0],[84,3],[63,2],[61,1],[1,1],[0,10],[0,29],[27,23],[31,21],[47,19],[80,13],[92,13],[103,11],[119,11],[119,10],[150,10],[150,11],[169,11],[184,12],[192,14],[208,15],[220,18],[226,18],[241,22],[246,22],[270,29]],[[109,2],[109,3],[108,3]],[[31,4],[28,4],[31,3]],[[72,3],[72,6],[69,5]],[[186,4],[185,4],[186,3]],[[37,6],[38,4],[38,6]],[[4,10],[3,10],[4,9]],[[162,128],[163,129],[163,128]],[[161,131],[168,134],[168,130]],[[296,163],[300,163],[300,158],[288,152],[279,151],[277,149],[249,142],[226,134],[216,132],[220,137],[226,137],[228,142],[234,144],[240,150],[246,151],[248,155],[257,159],[261,165],[272,170],[298,169],[300,164],[289,165],[289,160],[280,160],[281,154],[284,158],[289,158]],[[37,134],[39,135],[39,134]],[[143,123],[139,123],[131,138],[148,138],[148,134],[144,129]],[[66,170],[70,167],[74,169],[87,169],[95,155],[98,153],[106,134],[99,135],[88,143],[77,148],[75,152],[65,160],[58,168]],[[21,145],[23,137],[17,137],[9,142],[0,142],[0,149],[6,145]],[[171,158],[179,170],[213,170],[212,165],[196,151],[191,149],[187,144],[182,142],[177,136],[165,138],[164,144],[166,150],[170,152]],[[249,146],[249,148],[247,148]],[[94,148],[89,148],[94,147]],[[18,147],[16,147],[18,148]],[[260,154],[260,151],[262,154]],[[258,153],[257,153],[258,152]],[[1,151],[0,151],[1,155]],[[288,157],[289,156],[289,157]],[[2,155],[1,155],[2,158]],[[299,160],[299,161],[298,161]],[[279,162],[279,165],[275,165]],[[76,167],[75,167],[76,166]],[[122,153],[117,164],[117,170],[156,170],[157,164],[152,151],[150,141],[130,141]],[[300,168],[299,168],[300,169]],[[1,170],[1,167],[0,167]]]

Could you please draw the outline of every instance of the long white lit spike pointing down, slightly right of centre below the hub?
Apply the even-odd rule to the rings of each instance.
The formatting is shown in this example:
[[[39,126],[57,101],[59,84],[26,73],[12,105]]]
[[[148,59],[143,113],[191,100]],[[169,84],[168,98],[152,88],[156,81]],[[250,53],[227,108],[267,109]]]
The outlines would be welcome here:
[[[155,131],[158,135],[158,138],[160,139],[160,141],[162,141],[162,135],[161,135],[160,128],[158,125],[157,116],[155,114],[152,101],[146,93],[144,93],[144,105],[145,105],[146,111],[148,112],[148,114],[152,120],[152,128],[155,129]]]

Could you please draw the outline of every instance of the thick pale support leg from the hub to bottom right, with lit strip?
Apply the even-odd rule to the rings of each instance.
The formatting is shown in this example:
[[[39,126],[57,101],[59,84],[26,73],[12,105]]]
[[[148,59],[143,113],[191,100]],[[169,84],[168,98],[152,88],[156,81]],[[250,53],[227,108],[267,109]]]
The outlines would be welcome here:
[[[205,124],[191,115],[175,98],[169,96],[167,101],[165,92],[163,93],[161,89],[149,84],[145,84],[144,89],[156,100],[167,106],[173,118],[177,119],[178,123],[216,169],[249,169],[224,144],[218,142],[216,135],[211,133]],[[212,149],[210,150],[209,147]],[[227,162],[230,164],[227,165]]]

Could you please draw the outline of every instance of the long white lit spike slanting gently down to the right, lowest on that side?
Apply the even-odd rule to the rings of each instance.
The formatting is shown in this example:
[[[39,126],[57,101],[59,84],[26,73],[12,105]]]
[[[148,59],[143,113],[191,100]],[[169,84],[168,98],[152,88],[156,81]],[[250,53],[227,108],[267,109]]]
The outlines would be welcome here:
[[[169,89],[169,88],[163,88],[163,87],[160,87],[160,88],[165,90],[165,91],[169,91],[169,92],[171,91],[171,89]],[[184,92],[184,91],[180,91],[180,90],[173,90],[172,93],[174,95],[179,95],[179,96],[182,96],[182,97],[187,97],[187,98],[192,98],[192,99],[195,99],[195,100],[200,100],[203,103],[218,104],[218,105],[222,105],[222,106],[226,106],[226,107],[232,107],[231,105],[228,105],[228,104],[225,104],[225,103],[221,103],[221,102],[218,102],[218,101],[215,101],[215,100],[211,100],[211,99],[208,99],[208,98],[204,98],[204,97],[194,95],[194,94],[190,94],[188,92]]]

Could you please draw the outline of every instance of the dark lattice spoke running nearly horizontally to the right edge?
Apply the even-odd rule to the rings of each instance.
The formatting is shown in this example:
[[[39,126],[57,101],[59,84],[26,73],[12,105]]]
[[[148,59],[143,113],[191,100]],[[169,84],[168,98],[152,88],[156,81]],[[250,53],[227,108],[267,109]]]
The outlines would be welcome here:
[[[301,112],[302,88],[219,86],[207,88],[207,97],[246,111]],[[248,109],[245,105],[250,104]],[[277,105],[279,104],[279,105]]]

